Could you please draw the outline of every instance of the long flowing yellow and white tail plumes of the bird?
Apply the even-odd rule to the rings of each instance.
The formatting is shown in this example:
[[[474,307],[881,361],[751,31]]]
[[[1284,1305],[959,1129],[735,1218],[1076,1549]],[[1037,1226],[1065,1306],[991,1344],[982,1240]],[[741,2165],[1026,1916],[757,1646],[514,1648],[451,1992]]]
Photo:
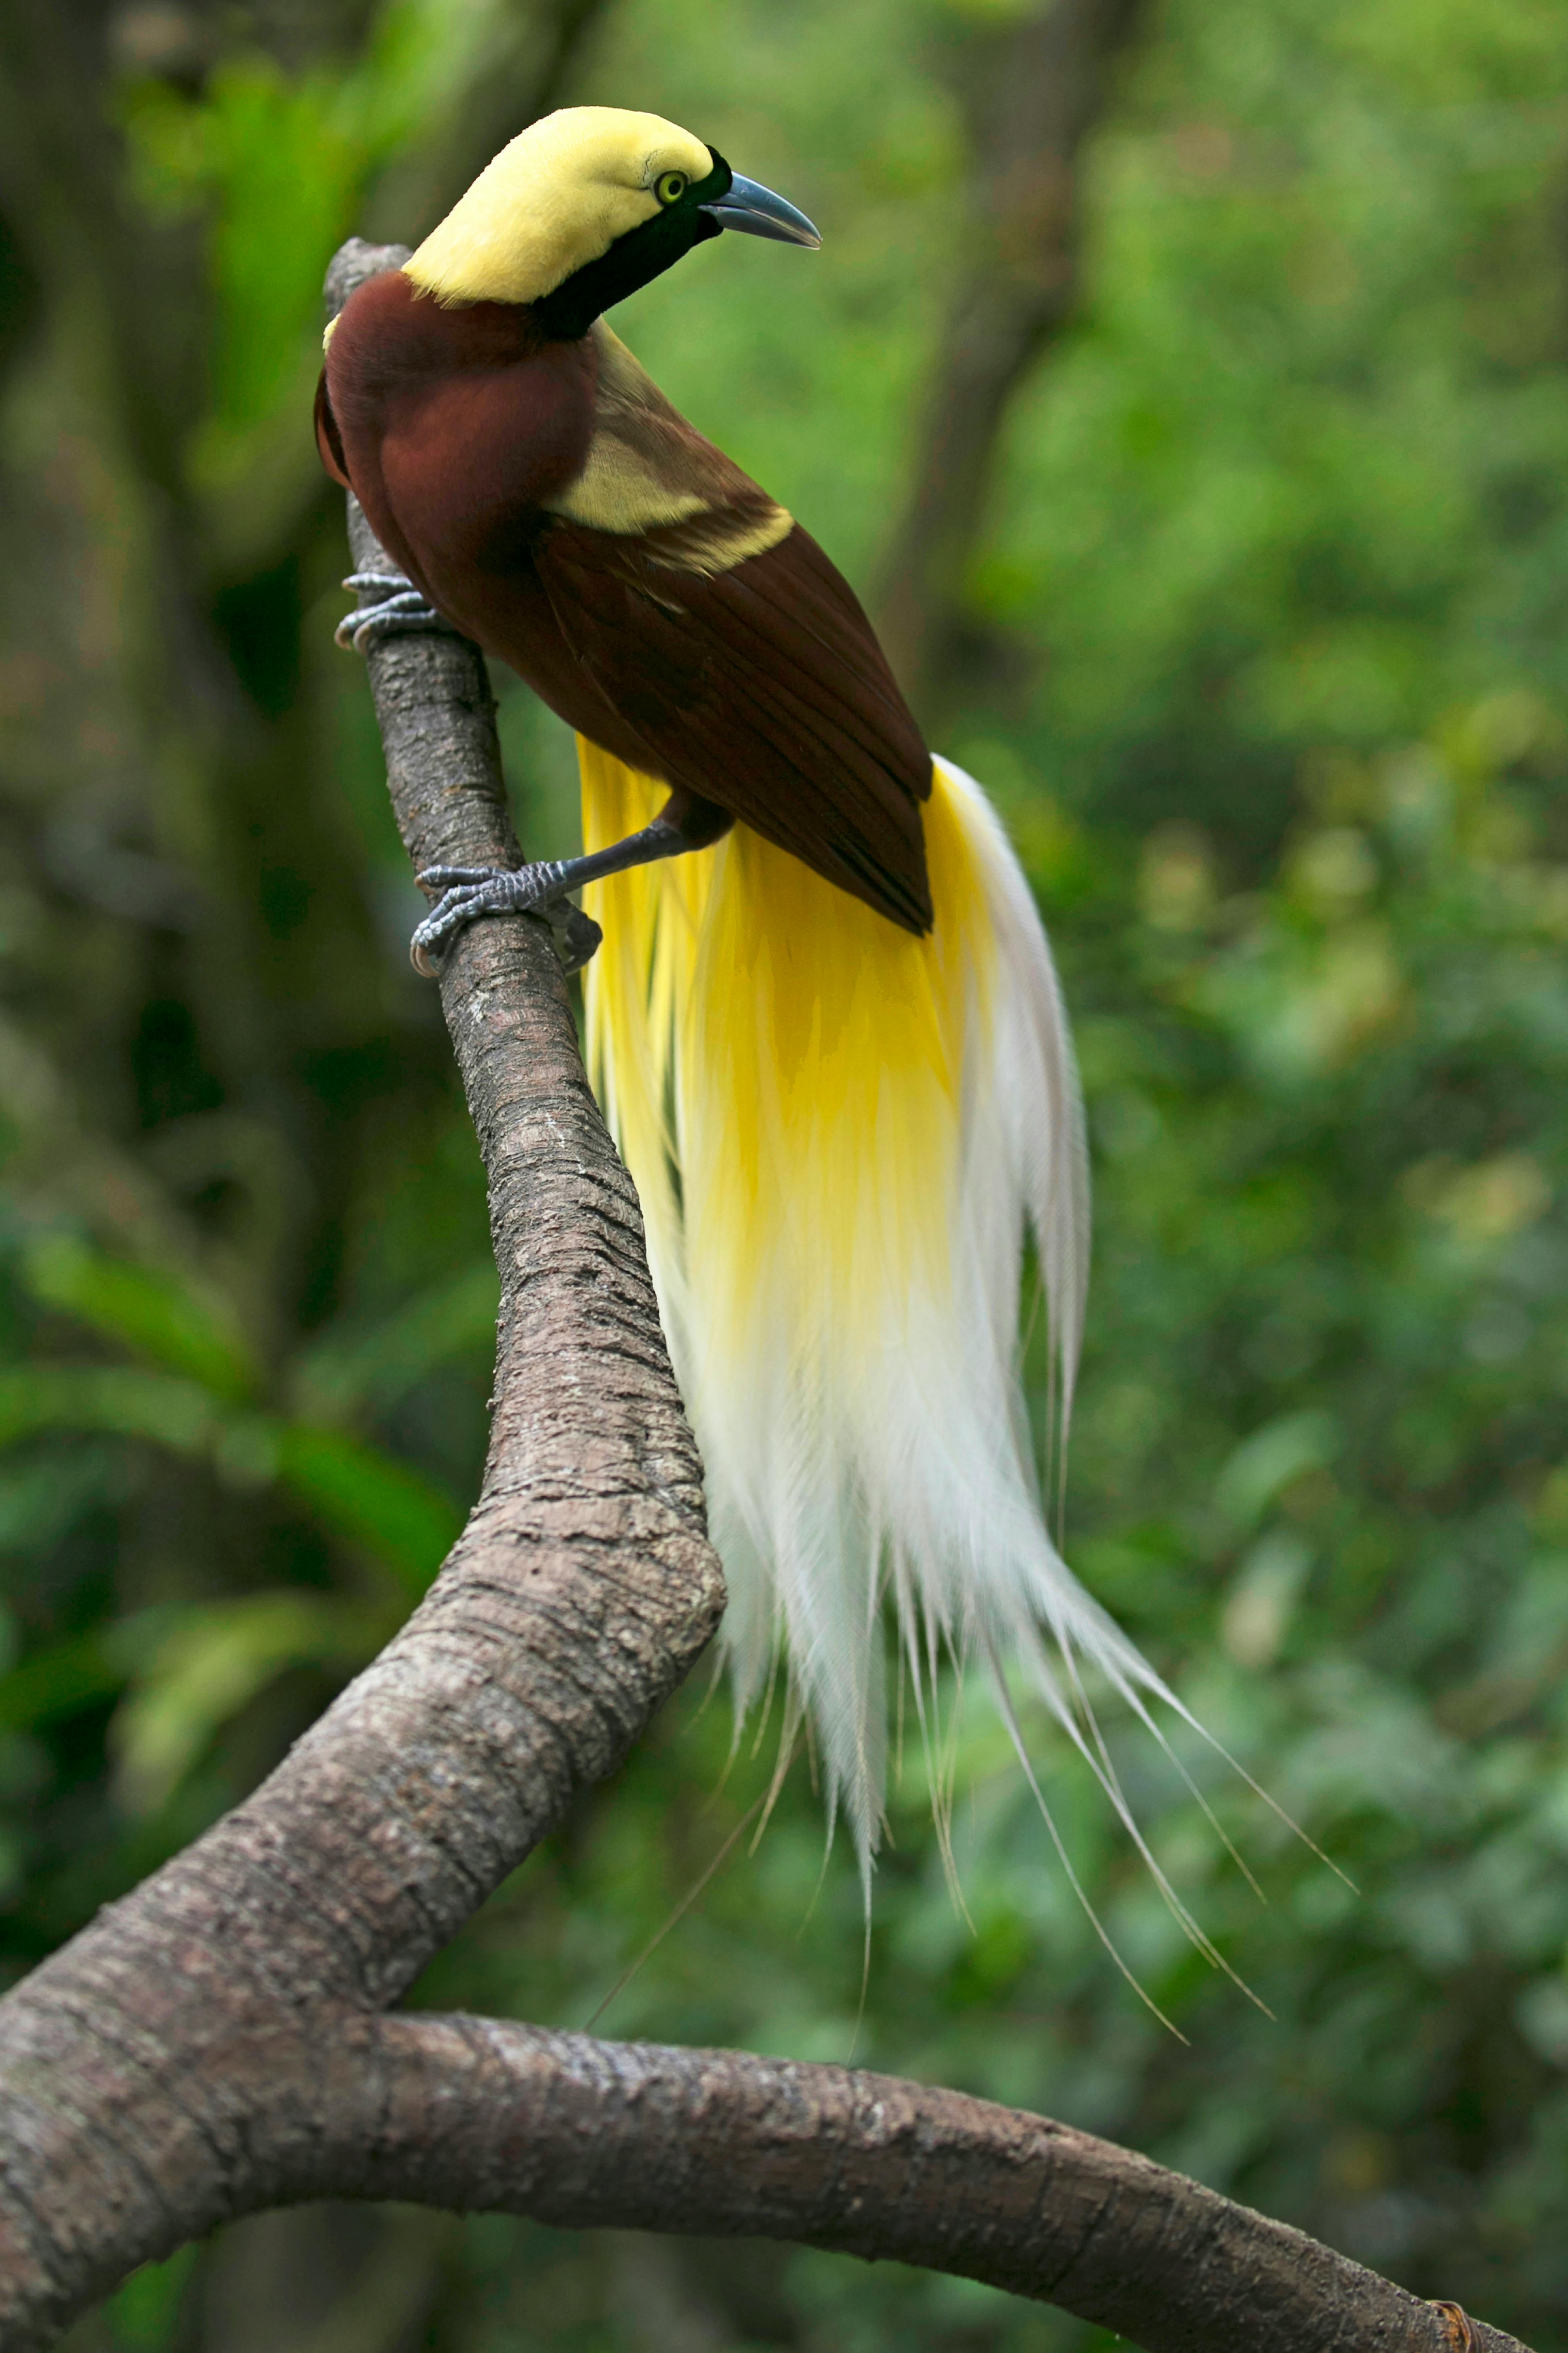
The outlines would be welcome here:
[[[578,753],[597,849],[665,788]],[[886,1595],[917,1701],[945,1649],[1018,1659],[1112,1798],[1081,1668],[1140,1715],[1168,1697],[1046,1532],[1018,1301],[1032,1231],[1060,1442],[1088,1273],[1081,1104],[1039,913],[945,760],[926,859],[926,939],[743,826],[588,892],[588,1059],[703,1447],[736,1697],[764,1692],[783,1645],[863,1871]]]

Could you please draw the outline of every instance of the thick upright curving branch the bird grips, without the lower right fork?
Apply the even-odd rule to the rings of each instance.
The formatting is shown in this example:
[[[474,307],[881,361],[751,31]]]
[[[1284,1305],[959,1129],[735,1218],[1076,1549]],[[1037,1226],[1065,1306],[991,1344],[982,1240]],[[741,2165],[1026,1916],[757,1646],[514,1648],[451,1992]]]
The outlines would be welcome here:
[[[362,525],[355,553],[376,555]],[[477,649],[397,638],[369,673],[414,864],[512,856]],[[256,2113],[275,2068],[299,2080],[282,2054],[343,2005],[397,2000],[616,1767],[724,1605],[637,1198],[550,929],[475,925],[442,1005],[501,1268],[480,1501],[425,1602],[284,1765],[0,2005],[7,2348],[254,2202]]]

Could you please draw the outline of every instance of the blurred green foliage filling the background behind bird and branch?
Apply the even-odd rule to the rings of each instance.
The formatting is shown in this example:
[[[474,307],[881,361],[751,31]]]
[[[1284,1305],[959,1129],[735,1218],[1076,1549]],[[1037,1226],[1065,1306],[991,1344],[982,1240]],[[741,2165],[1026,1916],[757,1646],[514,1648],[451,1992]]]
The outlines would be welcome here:
[[[616,325],[863,584],[964,271],[952,64],[999,9],[623,0],[574,80],[820,221],[820,259],[724,240]],[[110,42],[125,205],[207,289],[160,325],[183,388],[153,421],[113,301],[49,304],[14,221],[0,254],[12,1974],[266,1772],[477,1478],[482,1184],[329,645],[341,515],[303,419],[327,256],[421,226],[503,33],[496,0],[390,0],[315,47],[226,21],[200,71],[146,26]],[[907,1744],[865,1991],[804,1769],[618,1988],[771,1769],[769,1729],[731,1755],[724,1697],[691,1692],[418,1998],[581,2026],[618,1988],[609,2033],[1039,2106],[1563,2353],[1568,7],[1168,0],[1086,207],[1081,320],[1009,421],[964,584],[1030,685],[947,732],[1039,887],[1084,1059],[1070,1555],[1342,1875],[1187,1739],[1260,1904],[1117,1734],[1220,1974],[1032,1725],[1164,2026],[971,1694],[964,1908]],[[228,699],[172,668],[174,544]],[[550,854],[569,746],[520,692],[503,727]],[[78,2339],[301,2341],[1107,2344],[816,2254],[407,2214],[244,2226]]]

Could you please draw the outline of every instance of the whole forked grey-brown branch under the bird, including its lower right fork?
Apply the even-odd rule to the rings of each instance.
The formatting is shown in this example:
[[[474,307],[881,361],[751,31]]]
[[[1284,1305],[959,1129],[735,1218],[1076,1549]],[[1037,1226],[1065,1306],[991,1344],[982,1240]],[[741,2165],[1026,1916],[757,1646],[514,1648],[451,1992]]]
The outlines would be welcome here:
[[[339,294],[397,254],[348,247]],[[414,859],[510,856],[475,649],[395,638],[369,673]],[[548,925],[475,925],[442,1000],[501,1266],[480,1504],[430,1598],[256,1795],[0,2002],[0,2353],[52,2344],[148,2257],[308,2198],[795,2238],[990,2280],[1147,2353],[1462,2346],[1455,2315],[1037,2115],[383,2014],[616,1765],[722,1607],[637,1202]],[[1486,2327],[1469,2344],[1521,2353]]]

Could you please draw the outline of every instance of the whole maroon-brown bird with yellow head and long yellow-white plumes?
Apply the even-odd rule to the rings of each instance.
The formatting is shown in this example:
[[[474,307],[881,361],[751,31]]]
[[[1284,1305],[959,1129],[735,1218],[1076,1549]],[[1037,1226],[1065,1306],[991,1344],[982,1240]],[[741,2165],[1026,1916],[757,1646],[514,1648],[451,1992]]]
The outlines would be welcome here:
[[[1088,1186],[1032,894],[816,539],[604,325],[722,231],[820,242],[675,122],[552,113],[346,304],[317,433],[402,565],[355,642],[458,628],[576,729],[583,856],[425,873],[414,958],[585,887],[736,1697],[783,1649],[870,1882],[889,1600],[917,1699],[950,1652],[1006,1708],[1018,1661],[1124,1817],[1084,1668],[1171,1694],[1051,1541],[1018,1384],[1032,1233],[1065,1435]]]

